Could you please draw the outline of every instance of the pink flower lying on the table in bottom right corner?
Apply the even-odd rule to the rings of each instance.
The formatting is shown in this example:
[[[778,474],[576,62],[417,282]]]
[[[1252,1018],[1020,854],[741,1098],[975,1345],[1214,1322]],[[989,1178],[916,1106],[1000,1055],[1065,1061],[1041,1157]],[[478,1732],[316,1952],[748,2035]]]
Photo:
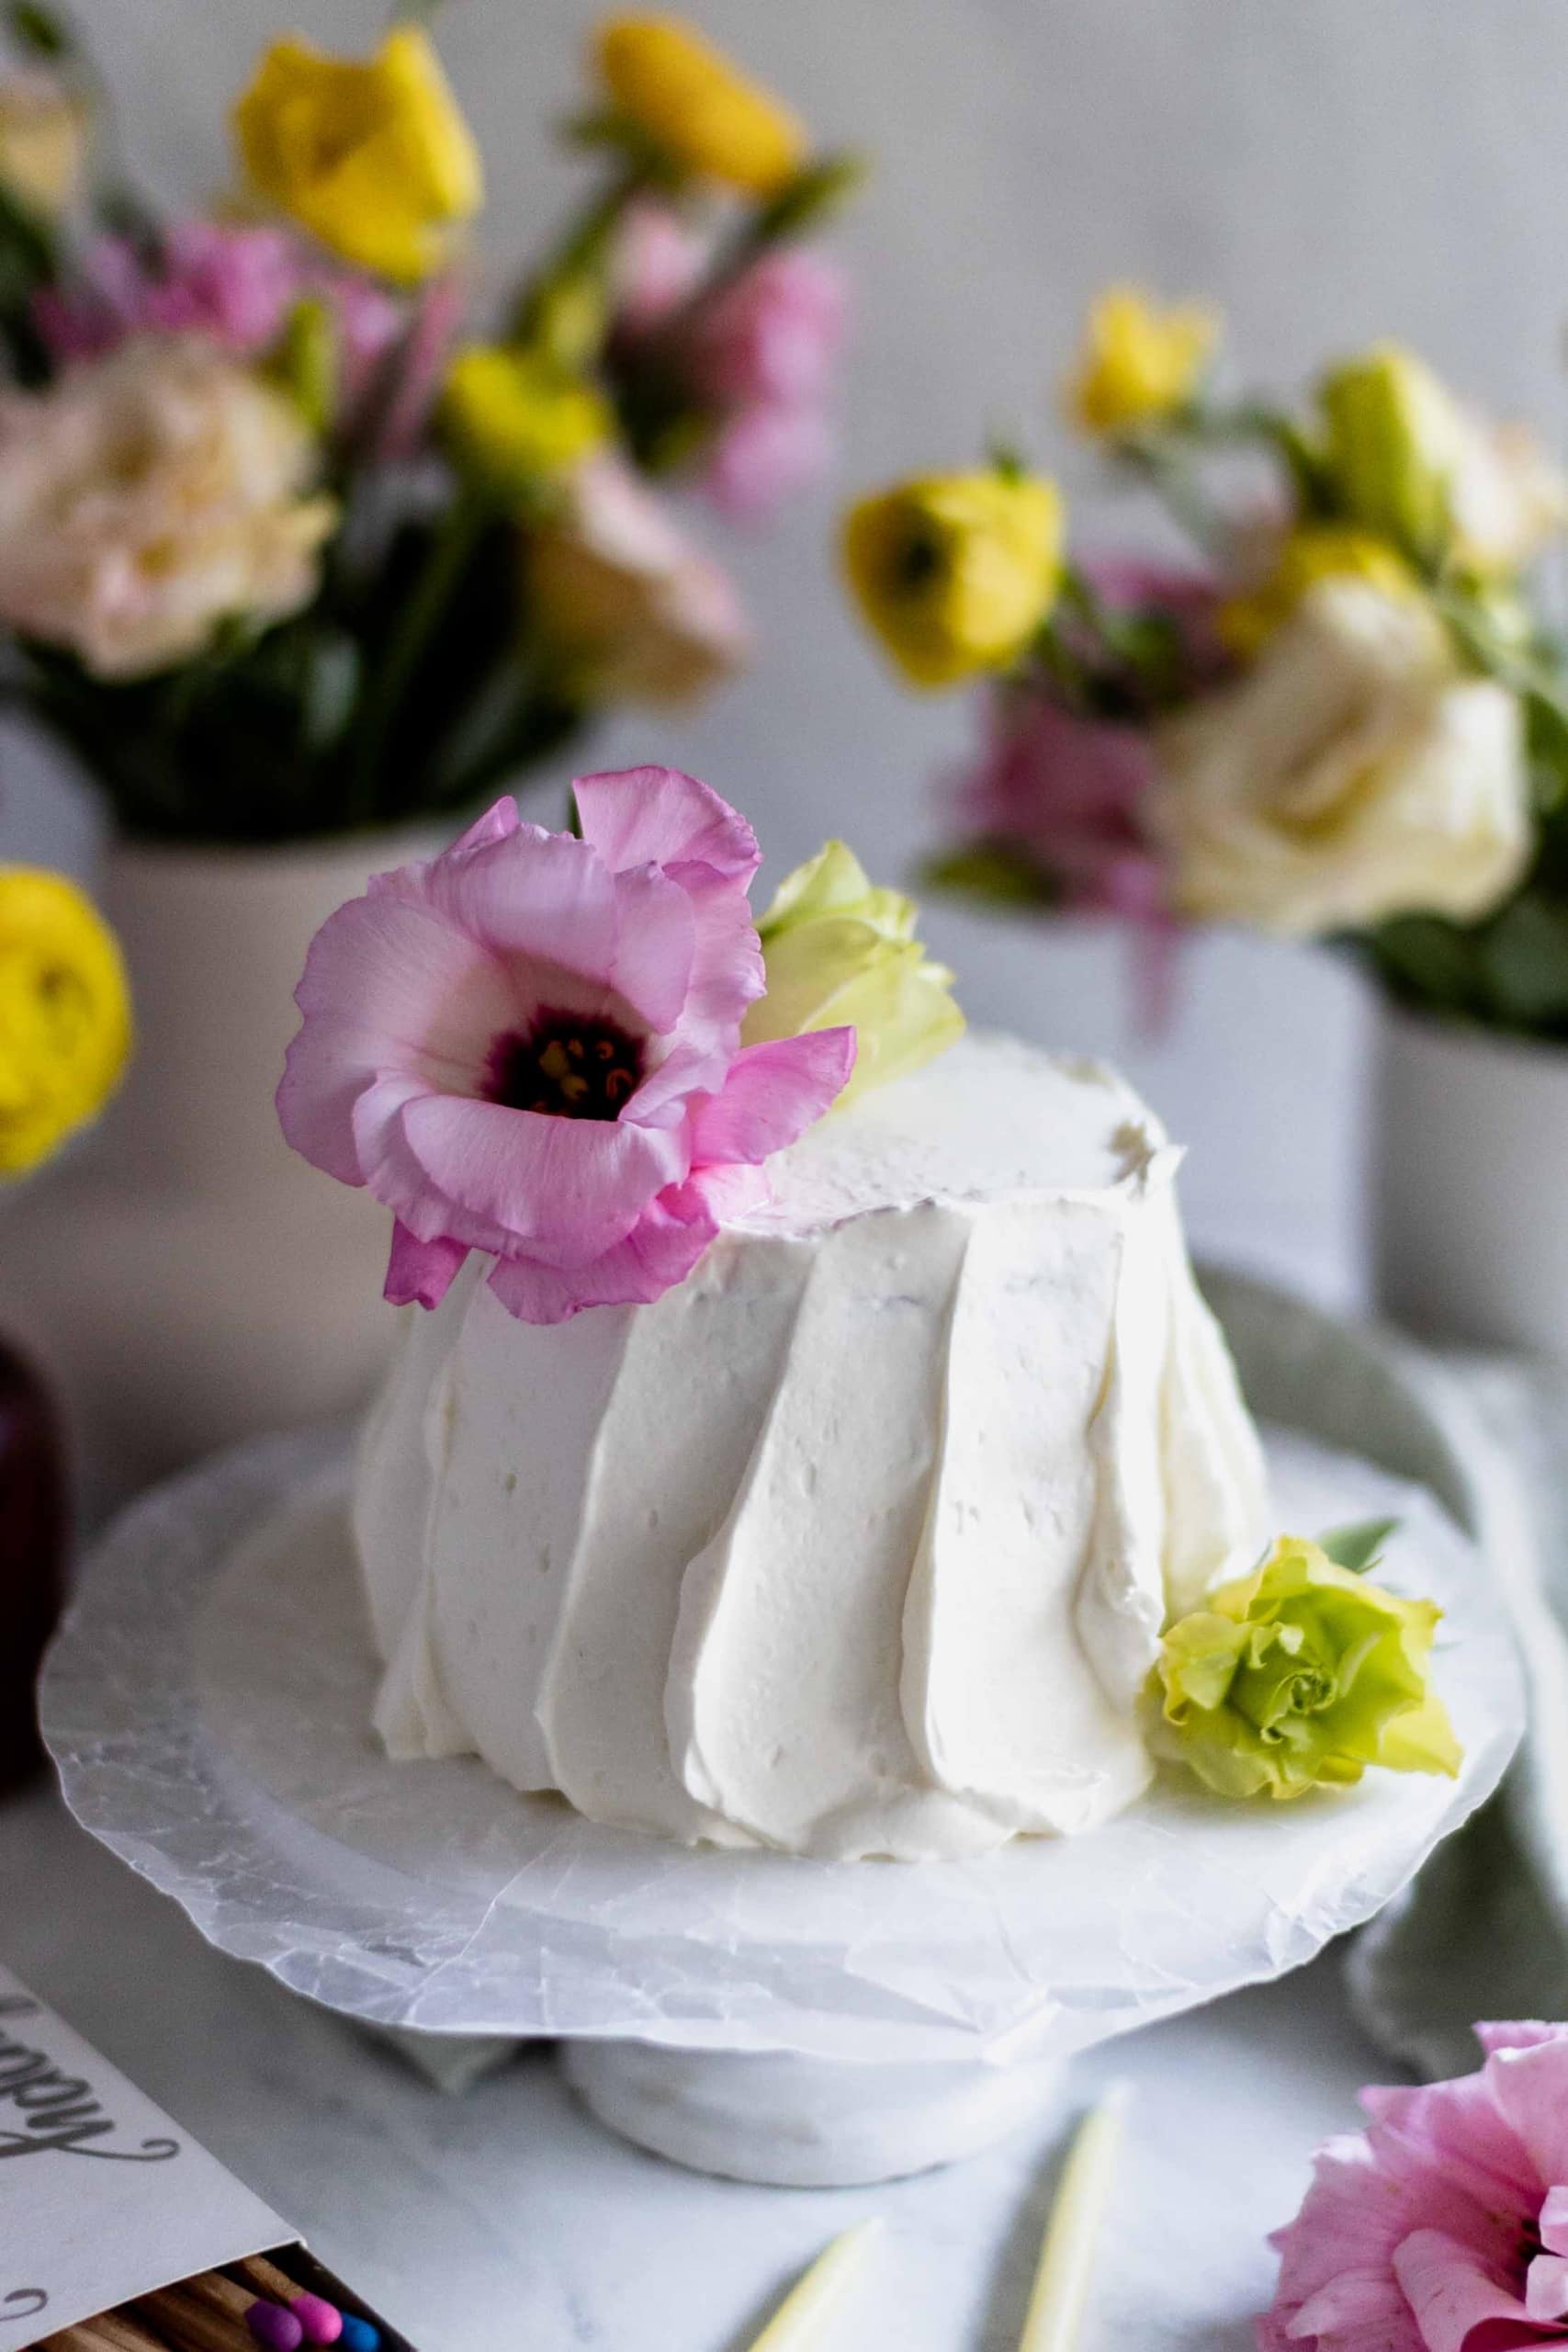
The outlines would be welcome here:
[[[1526,2352],[1568,2343],[1568,2027],[1479,2025],[1486,2065],[1363,2091],[1319,2150],[1260,2352]]]

